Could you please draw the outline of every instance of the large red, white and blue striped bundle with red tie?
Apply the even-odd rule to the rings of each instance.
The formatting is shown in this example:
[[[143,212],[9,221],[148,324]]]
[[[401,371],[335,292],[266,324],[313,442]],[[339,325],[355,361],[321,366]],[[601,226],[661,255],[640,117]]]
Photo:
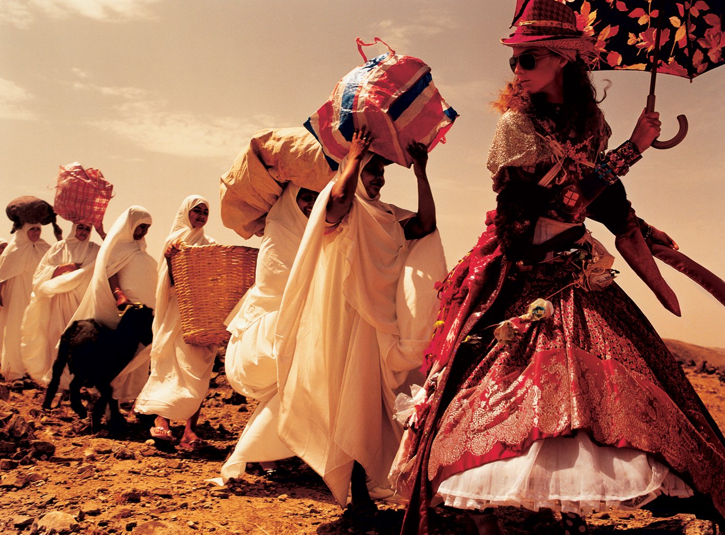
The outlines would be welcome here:
[[[381,42],[375,38],[376,42]],[[410,167],[411,142],[426,144],[428,152],[445,142],[444,135],[458,116],[434,86],[431,68],[418,58],[389,52],[365,60],[337,83],[325,104],[305,127],[322,144],[335,171],[347,155],[355,129],[365,125],[373,134],[372,152]],[[387,44],[385,44],[387,46]]]

